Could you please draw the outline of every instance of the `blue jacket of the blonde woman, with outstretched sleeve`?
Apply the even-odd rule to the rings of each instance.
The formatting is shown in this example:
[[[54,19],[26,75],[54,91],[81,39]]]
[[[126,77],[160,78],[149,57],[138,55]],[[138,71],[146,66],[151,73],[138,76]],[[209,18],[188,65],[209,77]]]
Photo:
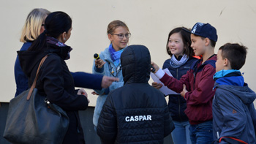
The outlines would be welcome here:
[[[32,42],[26,42],[20,48],[20,50],[28,50]],[[18,96],[23,91],[29,89],[28,77],[24,74],[20,67],[20,60],[17,56],[15,61],[15,82],[16,82],[16,93]],[[75,86],[80,88],[94,88],[101,89],[102,77],[103,75],[92,75],[86,72],[71,72],[73,79],[75,81]]]

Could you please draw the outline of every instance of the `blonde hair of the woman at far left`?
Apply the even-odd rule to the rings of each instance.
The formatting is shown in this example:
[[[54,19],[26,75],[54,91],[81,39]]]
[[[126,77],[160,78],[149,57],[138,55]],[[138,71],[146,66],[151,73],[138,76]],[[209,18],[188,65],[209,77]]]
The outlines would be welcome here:
[[[20,42],[34,41],[40,35],[43,21],[50,12],[45,9],[34,9],[29,12],[26,22],[23,26]]]

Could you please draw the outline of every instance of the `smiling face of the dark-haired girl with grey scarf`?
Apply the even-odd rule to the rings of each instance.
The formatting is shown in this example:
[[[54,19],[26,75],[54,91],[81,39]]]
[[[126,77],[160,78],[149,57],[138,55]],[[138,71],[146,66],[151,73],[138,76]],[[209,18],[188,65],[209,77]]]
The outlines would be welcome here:
[[[170,50],[170,53],[172,53],[176,57],[183,56],[184,43],[182,41],[180,33],[174,33],[170,35],[168,41],[168,48]]]

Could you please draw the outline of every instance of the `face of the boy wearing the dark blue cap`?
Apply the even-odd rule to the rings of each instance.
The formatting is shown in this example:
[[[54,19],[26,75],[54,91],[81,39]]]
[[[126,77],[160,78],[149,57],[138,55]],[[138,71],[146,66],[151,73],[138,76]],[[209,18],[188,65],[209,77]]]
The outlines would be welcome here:
[[[191,48],[193,48],[195,56],[201,56],[205,53],[205,40],[201,37],[195,36],[195,34],[191,34]]]

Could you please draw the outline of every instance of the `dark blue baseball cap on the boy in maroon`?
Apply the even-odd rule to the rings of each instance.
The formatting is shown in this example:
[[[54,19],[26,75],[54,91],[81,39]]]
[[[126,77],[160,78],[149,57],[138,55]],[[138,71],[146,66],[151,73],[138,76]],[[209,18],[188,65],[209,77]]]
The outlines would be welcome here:
[[[207,37],[214,42],[217,42],[218,39],[217,30],[209,23],[195,23],[191,30],[191,33],[200,37]]]

